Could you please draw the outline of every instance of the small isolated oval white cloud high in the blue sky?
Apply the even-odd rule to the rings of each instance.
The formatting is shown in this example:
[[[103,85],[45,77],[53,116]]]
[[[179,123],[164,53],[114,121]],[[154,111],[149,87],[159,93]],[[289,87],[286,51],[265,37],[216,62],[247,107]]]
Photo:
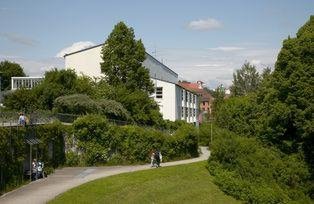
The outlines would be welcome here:
[[[205,20],[199,19],[196,21],[191,21],[188,25],[188,28],[191,30],[201,30],[201,31],[213,30],[213,29],[217,29],[221,27],[222,27],[222,24],[214,18],[208,18]]]

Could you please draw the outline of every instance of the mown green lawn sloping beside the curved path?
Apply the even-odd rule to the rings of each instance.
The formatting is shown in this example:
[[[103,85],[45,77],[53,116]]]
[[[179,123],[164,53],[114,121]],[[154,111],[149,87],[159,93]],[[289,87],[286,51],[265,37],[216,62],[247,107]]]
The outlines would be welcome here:
[[[238,203],[213,184],[206,162],[98,179],[49,203]]]

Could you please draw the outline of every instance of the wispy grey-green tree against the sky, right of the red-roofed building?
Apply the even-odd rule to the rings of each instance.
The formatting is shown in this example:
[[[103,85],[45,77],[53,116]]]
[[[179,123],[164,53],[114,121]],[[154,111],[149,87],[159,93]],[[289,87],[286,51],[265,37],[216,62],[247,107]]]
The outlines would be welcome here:
[[[256,67],[249,62],[244,63],[241,69],[233,74],[233,85],[231,93],[233,96],[245,96],[250,92],[255,91],[261,78],[256,71]]]

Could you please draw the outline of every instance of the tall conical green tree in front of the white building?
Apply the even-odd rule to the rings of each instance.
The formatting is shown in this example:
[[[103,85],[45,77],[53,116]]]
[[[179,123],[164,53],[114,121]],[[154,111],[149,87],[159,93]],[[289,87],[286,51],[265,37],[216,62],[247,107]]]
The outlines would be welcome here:
[[[101,53],[101,72],[110,85],[153,92],[149,71],[142,65],[145,48],[141,40],[135,40],[133,28],[123,22],[115,25]]]

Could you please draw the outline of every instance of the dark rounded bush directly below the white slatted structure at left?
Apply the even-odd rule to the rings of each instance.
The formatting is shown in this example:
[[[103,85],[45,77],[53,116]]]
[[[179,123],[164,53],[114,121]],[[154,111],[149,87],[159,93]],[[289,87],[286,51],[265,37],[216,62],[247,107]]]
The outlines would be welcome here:
[[[21,88],[5,95],[4,106],[11,110],[32,112],[38,107],[38,98],[34,91]]]

